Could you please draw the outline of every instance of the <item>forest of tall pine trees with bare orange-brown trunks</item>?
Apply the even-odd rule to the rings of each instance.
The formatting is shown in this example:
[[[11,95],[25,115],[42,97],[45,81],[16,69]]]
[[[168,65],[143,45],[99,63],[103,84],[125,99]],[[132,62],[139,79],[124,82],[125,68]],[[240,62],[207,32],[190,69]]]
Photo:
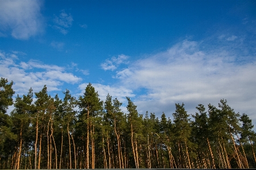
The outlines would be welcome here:
[[[0,169],[256,168],[254,126],[224,99],[195,114],[177,103],[171,120],[139,114],[129,97],[124,113],[90,83],[77,98],[63,93],[52,97],[44,86],[14,96],[1,78]]]

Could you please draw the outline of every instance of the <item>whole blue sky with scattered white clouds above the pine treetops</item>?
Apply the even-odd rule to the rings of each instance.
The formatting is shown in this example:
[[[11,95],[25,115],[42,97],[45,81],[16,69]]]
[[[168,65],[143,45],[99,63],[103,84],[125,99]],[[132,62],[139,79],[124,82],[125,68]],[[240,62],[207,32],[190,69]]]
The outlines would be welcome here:
[[[126,96],[172,119],[221,99],[256,125],[256,1],[0,1],[0,76],[17,94]],[[10,107],[12,109],[12,107]],[[255,128],[254,128],[255,129]]]

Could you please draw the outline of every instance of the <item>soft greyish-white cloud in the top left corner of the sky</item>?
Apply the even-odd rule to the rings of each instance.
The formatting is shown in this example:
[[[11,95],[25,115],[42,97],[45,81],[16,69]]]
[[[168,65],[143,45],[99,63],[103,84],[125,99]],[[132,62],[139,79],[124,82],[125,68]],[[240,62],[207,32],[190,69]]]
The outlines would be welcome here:
[[[15,39],[26,40],[43,31],[43,17],[40,14],[42,1],[2,0],[0,1],[0,29],[9,31]],[[4,33],[1,33],[5,36]]]

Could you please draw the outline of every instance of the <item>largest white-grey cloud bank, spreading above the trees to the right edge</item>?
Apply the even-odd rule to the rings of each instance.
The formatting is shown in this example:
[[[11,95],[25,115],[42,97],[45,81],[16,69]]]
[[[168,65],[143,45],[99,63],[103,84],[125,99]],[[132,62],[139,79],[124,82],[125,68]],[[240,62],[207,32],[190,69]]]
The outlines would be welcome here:
[[[213,51],[201,50],[201,45],[185,40],[166,52],[131,63],[117,71],[115,78],[127,89],[146,90],[146,94],[134,99],[140,113],[155,112],[160,116],[165,112],[171,117],[175,103],[184,103],[187,111],[195,114],[197,104],[217,107],[220,99],[226,99],[234,111],[245,112],[256,122],[255,59],[246,61],[246,56],[232,47]],[[245,62],[237,62],[240,56],[245,57]]]

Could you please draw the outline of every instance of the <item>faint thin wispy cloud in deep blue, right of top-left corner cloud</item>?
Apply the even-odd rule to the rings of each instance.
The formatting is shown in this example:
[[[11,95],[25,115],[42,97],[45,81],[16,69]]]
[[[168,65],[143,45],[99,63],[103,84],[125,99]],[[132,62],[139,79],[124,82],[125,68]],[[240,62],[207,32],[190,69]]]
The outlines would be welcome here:
[[[58,29],[63,35],[68,33],[68,28],[72,27],[73,17],[71,14],[67,14],[65,10],[61,10],[59,16],[54,15],[53,28]]]

